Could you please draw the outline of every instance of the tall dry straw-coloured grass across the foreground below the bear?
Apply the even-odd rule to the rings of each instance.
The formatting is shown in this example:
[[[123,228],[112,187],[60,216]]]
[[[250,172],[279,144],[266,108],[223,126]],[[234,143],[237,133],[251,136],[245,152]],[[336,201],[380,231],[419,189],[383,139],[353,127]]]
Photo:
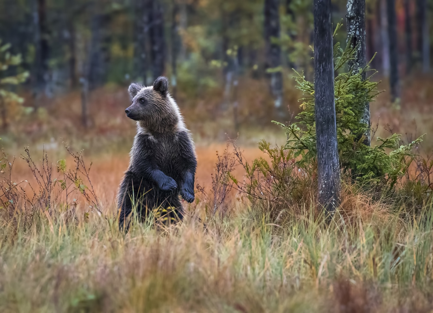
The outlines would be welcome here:
[[[61,196],[52,198],[51,211],[41,201],[11,211],[2,197],[0,311],[431,310],[431,207],[403,220],[353,190],[344,188],[331,224],[313,199],[291,204],[297,214],[278,224],[266,208],[222,197],[232,191],[211,184],[197,192],[181,224],[155,227],[149,219],[126,235],[118,230],[115,194],[98,199],[106,204],[100,211],[77,201],[72,219]],[[229,209],[215,212],[222,198]]]

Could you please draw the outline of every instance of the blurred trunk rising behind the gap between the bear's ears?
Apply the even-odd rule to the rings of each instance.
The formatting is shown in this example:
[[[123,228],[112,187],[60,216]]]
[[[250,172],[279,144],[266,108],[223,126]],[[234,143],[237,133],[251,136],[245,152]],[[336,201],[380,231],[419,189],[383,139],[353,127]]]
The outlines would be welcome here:
[[[149,14],[145,11],[149,0],[135,0],[134,5],[134,73],[133,79],[147,83],[149,57],[147,53]]]

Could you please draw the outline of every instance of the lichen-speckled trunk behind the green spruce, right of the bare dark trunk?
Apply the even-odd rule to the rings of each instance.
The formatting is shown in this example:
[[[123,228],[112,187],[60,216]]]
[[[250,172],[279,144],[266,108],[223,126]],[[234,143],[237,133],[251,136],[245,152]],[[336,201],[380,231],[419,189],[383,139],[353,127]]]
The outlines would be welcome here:
[[[347,44],[356,49],[355,59],[349,60],[349,69],[357,73],[367,65],[365,57],[365,0],[348,0],[346,18]],[[362,73],[362,79],[365,80],[365,72]],[[360,122],[368,126],[368,130],[364,133],[364,144],[369,146],[371,141],[369,102],[365,102]]]

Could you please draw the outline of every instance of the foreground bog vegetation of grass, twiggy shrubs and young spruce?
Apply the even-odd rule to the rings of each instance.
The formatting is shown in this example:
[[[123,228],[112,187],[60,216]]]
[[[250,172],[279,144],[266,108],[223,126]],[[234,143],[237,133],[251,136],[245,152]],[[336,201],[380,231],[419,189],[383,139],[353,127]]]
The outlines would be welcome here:
[[[340,52],[336,68],[352,57]],[[360,107],[377,84],[360,75],[335,78],[344,175],[331,221],[315,199],[313,84],[302,74],[303,111],[281,125],[287,144],[261,141],[265,157],[251,162],[229,142],[181,224],[150,214],[120,233],[114,195],[97,194],[83,154],[66,148],[68,161],[46,152],[39,160],[28,148],[21,158],[29,178],[15,181],[14,158],[4,152],[0,310],[431,310],[433,162],[416,153],[419,139],[362,143]]]

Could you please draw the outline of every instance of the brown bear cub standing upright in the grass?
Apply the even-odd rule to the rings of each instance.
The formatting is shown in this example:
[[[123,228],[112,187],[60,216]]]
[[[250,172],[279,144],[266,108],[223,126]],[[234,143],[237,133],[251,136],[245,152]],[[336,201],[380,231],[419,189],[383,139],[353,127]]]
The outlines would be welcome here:
[[[150,87],[132,83],[128,91],[132,104],[125,112],[137,121],[137,134],[117,198],[119,227],[128,229],[135,208],[142,219],[153,209],[181,219],[179,194],[194,201],[197,160],[191,134],[168,93],[167,78],[158,77]]]

